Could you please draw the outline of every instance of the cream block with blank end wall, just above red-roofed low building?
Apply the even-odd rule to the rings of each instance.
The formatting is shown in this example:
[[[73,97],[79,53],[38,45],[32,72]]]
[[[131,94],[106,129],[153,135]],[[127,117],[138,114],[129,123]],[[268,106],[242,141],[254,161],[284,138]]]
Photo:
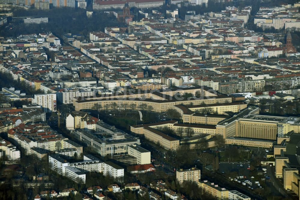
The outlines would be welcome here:
[[[151,152],[136,144],[128,146],[128,154],[137,158],[137,165],[151,163]]]

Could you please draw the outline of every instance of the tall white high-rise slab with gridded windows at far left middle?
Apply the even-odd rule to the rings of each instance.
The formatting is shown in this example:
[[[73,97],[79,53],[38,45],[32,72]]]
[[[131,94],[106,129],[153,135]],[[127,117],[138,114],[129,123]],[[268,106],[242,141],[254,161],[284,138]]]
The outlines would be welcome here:
[[[44,109],[44,112],[56,112],[56,94],[35,94],[34,102]]]

